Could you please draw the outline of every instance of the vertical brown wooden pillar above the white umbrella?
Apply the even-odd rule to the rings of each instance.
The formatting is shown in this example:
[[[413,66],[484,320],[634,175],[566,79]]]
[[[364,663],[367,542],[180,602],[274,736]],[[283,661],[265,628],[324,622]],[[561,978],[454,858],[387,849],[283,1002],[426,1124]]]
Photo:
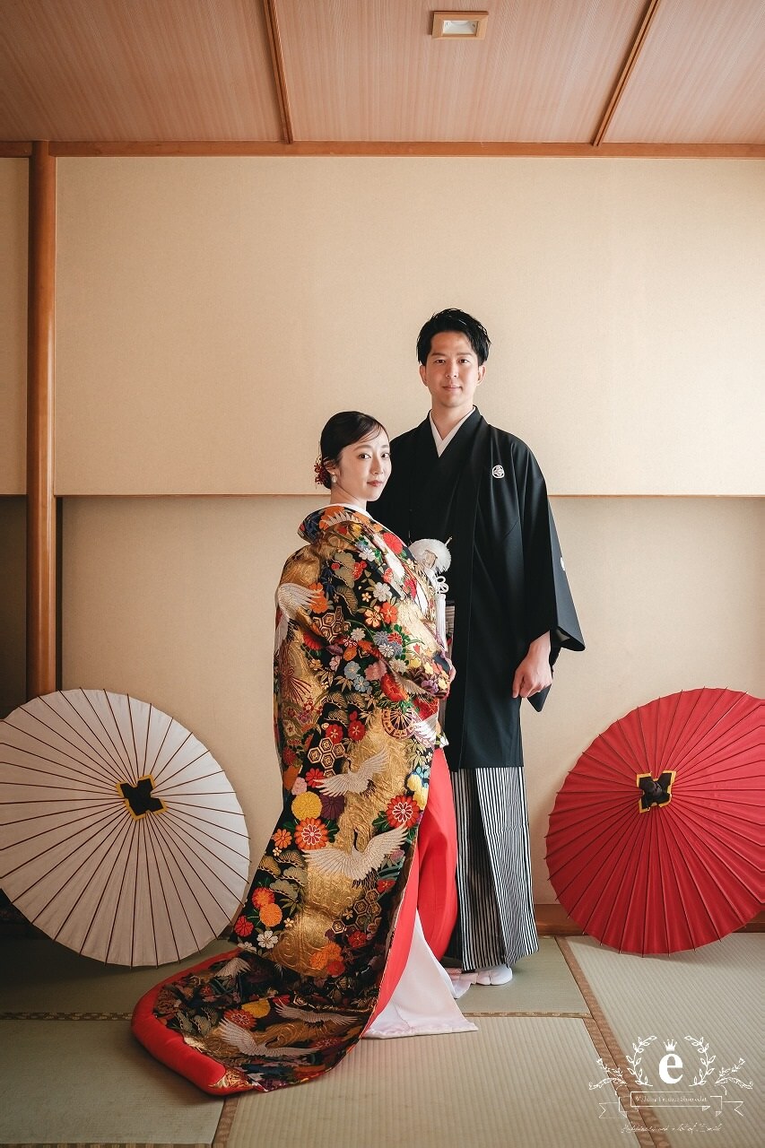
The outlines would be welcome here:
[[[47,142],[29,170],[26,365],[26,696],[56,688],[56,506],[54,497],[54,317],[56,166]]]

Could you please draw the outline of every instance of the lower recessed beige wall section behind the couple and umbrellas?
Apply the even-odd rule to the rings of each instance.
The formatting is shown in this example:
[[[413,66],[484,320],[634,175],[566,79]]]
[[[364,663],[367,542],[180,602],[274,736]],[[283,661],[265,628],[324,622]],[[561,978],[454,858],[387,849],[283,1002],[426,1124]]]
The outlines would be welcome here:
[[[130,692],[209,747],[245,809],[253,863],[280,807],[273,590],[314,498],[68,499],[63,684]],[[765,692],[763,507],[737,499],[556,499],[582,654],[563,653],[525,742],[535,899],[544,835],[593,738],[662,693]]]

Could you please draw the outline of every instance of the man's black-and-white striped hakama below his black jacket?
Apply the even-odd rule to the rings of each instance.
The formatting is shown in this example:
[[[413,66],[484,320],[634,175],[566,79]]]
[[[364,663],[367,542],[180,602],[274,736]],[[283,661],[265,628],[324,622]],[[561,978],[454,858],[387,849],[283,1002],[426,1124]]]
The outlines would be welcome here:
[[[539,948],[523,769],[451,774],[459,914],[448,955],[464,970],[512,965]]]

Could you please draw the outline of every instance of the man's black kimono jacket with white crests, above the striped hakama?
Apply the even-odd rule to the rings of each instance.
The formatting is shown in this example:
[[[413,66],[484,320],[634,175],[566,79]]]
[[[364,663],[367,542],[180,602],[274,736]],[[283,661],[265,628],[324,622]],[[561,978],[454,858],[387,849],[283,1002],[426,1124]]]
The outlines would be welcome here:
[[[519,767],[512,678],[530,643],[549,630],[550,664],[562,646],[585,649],[544,478],[528,447],[477,409],[440,458],[430,419],[391,445],[393,473],[376,518],[407,543],[440,538],[451,552],[449,768]],[[530,698],[535,709],[547,692]]]

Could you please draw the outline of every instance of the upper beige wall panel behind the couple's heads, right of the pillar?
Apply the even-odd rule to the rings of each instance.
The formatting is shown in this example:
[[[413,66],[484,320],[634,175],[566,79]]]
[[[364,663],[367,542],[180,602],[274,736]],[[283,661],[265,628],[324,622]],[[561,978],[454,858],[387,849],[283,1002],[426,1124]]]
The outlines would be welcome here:
[[[765,162],[59,162],[57,491],[310,491],[441,307],[559,494],[765,489]]]

